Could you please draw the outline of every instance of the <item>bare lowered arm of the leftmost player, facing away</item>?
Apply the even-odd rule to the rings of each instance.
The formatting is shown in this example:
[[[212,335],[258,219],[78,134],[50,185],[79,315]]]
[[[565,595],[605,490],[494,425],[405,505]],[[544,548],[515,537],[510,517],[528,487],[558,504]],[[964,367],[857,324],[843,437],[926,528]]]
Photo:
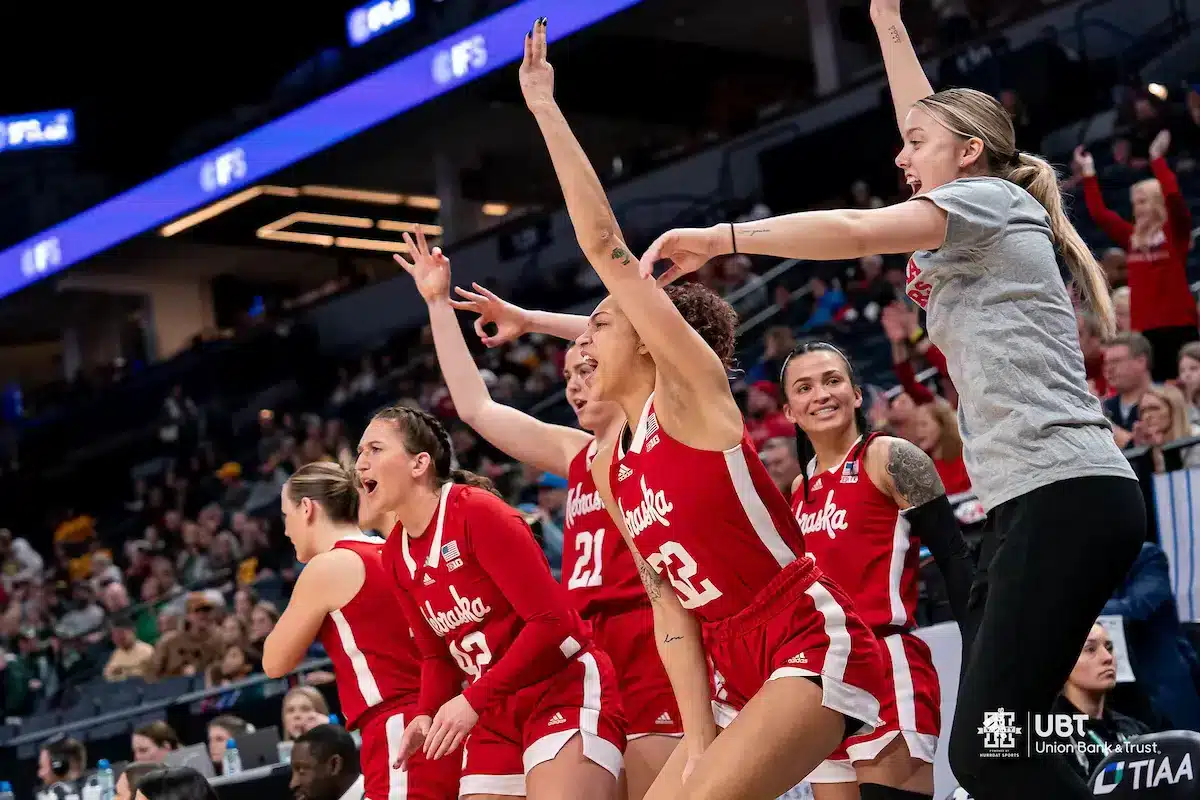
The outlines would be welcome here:
[[[282,678],[304,661],[325,615],[348,603],[366,576],[362,559],[344,549],[322,553],[300,571],[292,599],[263,643],[268,678]]]

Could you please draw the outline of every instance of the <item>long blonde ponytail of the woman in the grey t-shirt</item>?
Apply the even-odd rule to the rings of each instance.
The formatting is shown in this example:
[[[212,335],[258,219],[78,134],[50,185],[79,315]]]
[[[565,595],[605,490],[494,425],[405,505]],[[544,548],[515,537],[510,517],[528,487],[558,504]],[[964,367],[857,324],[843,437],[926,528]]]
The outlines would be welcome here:
[[[1091,248],[1067,217],[1062,190],[1058,188],[1058,174],[1050,162],[1028,152],[1018,154],[1016,161],[1016,166],[1004,178],[1028,192],[1046,210],[1050,216],[1050,235],[1070,270],[1084,303],[1099,320],[1102,336],[1112,336],[1117,324],[1112,299],[1109,296],[1109,281]]]

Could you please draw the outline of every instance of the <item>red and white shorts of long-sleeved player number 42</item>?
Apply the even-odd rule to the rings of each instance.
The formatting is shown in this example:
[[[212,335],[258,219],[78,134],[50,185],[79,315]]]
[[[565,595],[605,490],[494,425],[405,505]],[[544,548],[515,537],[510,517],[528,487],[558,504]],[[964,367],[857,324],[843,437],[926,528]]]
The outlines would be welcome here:
[[[524,776],[577,734],[583,754],[619,777],[625,718],[612,662],[599,649],[480,715],[463,748],[458,792],[524,796]]]

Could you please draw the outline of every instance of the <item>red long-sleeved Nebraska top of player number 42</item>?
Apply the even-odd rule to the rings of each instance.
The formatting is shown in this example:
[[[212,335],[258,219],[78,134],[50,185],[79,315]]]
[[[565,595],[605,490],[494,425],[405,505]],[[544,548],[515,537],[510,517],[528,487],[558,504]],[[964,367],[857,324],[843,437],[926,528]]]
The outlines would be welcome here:
[[[401,604],[426,661],[454,657],[468,702],[493,700],[544,680],[590,646],[590,630],[521,516],[490,492],[446,483],[428,529],[401,529],[384,546]],[[457,679],[461,682],[461,678]],[[421,706],[450,699],[444,673]]]

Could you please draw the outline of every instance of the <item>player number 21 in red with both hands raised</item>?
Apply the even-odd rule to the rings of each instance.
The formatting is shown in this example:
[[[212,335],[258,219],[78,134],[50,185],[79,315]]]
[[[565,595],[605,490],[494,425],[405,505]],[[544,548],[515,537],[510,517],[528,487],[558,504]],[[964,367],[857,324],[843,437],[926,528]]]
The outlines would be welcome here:
[[[467,349],[455,308],[480,311],[481,303],[503,301],[481,287],[479,290],[486,294],[460,290],[467,300],[450,300],[449,259],[440,248],[430,252],[420,231],[415,241],[404,236],[412,260],[396,255],[396,261],[413,276],[428,306],[438,362],[458,416],[512,458],[568,477],[563,585],[580,615],[592,624],[596,644],[612,658],[629,727],[628,796],[640,800],[671,756],[683,728],[655,649],[653,609],[637,578],[634,557],[605,511],[589,470],[599,443],[616,435],[620,409],[584,398],[587,369],[576,347],[566,351],[564,377],[568,401],[584,431],[550,425],[493,402]],[[586,317],[571,314],[527,317],[548,318],[550,333],[572,341],[587,326]]]

